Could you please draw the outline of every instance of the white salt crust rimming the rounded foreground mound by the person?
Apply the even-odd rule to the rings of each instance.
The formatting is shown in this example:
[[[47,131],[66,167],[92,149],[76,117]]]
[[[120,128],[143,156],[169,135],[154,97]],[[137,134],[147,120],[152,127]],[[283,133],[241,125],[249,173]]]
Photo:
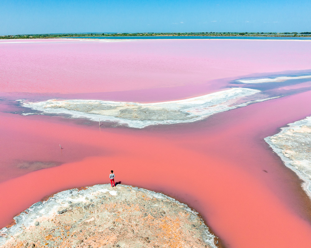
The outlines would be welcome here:
[[[69,189],[59,193],[56,193],[50,197],[47,201],[39,201],[30,206],[20,215],[14,217],[16,224],[10,228],[0,229],[0,246],[3,246],[8,240],[18,238],[18,235],[27,228],[34,227],[35,221],[38,218],[44,217],[44,219],[51,219],[57,215],[59,210],[69,208],[70,204],[75,203],[89,203],[89,199],[94,197],[100,197],[103,193],[109,193],[112,196],[117,196],[118,191],[109,190],[109,184],[97,184],[91,187],[86,187],[84,190]],[[162,193],[156,193],[154,191],[146,190],[143,188],[132,187],[129,185],[119,184],[117,187],[127,188],[131,192],[142,192],[146,197],[152,197],[156,199],[164,199],[170,202],[176,203],[181,209],[189,212],[193,217],[197,218],[197,212],[189,208],[186,204],[183,204],[174,198],[168,197]],[[203,222],[203,221],[202,221]],[[204,229],[203,239],[212,248],[216,248],[214,244],[215,236],[211,234],[208,227],[202,224]]]

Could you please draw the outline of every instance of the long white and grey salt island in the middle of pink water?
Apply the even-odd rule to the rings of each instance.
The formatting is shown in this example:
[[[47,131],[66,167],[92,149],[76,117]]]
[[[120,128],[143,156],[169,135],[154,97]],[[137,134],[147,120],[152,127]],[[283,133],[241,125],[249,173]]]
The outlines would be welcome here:
[[[134,128],[156,124],[173,124],[202,120],[257,101],[268,100],[261,91],[248,88],[231,88],[224,91],[159,103],[133,103],[101,100],[48,100],[29,102],[18,100],[26,108],[43,114],[68,114],[73,118],[92,121],[117,122]],[[249,98],[252,95],[252,98]],[[33,113],[23,113],[29,115]]]

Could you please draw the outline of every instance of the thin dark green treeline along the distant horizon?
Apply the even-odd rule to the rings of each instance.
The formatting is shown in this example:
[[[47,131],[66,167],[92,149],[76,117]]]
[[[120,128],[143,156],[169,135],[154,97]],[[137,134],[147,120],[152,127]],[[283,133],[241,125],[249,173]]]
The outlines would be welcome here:
[[[16,34],[2,35],[0,39],[33,39],[33,38],[64,38],[64,37],[97,37],[97,36],[299,36],[311,35],[311,32],[187,32],[187,33],[46,33],[46,34]]]

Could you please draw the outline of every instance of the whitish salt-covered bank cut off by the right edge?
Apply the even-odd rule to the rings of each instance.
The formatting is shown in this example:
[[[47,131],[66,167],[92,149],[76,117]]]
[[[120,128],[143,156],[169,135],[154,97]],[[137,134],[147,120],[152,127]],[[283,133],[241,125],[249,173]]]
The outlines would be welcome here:
[[[303,180],[302,187],[311,198],[311,117],[288,124],[265,141]]]

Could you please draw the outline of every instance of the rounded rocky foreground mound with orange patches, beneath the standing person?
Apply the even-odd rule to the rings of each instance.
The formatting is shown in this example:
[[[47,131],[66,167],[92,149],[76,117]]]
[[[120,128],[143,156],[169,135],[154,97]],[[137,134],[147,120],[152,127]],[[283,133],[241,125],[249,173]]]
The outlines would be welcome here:
[[[0,247],[216,247],[188,206],[128,185],[62,191],[14,219],[0,230]]]

